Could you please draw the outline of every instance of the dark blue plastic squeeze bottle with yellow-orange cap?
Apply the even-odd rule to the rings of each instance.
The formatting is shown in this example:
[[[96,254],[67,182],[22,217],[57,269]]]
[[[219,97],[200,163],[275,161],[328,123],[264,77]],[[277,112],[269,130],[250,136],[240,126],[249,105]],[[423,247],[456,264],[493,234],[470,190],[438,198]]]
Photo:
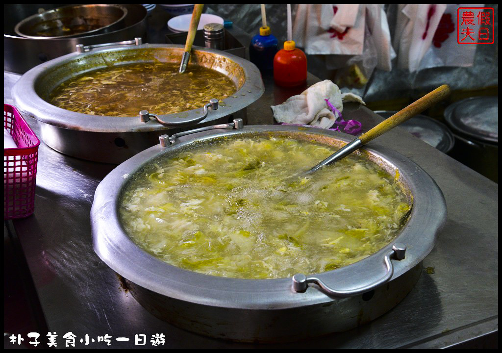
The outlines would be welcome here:
[[[260,71],[272,72],[274,56],[278,51],[277,38],[270,34],[270,27],[260,27],[260,34],[249,44],[249,59]]]

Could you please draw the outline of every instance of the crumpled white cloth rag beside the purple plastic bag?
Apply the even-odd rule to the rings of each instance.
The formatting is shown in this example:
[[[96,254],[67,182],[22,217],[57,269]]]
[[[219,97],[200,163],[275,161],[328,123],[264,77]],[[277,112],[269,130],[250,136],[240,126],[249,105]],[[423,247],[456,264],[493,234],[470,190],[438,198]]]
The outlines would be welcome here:
[[[338,119],[338,112],[328,109],[325,99],[340,112],[342,101],[358,101],[364,104],[359,96],[352,93],[342,94],[336,84],[324,80],[313,84],[302,93],[288,98],[284,103],[272,105],[274,118],[279,123],[311,125],[329,129]]]

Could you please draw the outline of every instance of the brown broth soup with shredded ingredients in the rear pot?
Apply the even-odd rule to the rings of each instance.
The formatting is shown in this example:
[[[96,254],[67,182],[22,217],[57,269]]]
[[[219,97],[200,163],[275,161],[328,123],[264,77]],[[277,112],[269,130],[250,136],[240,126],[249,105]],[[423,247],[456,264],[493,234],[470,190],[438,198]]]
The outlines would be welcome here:
[[[72,78],[52,94],[50,103],[92,115],[137,116],[140,110],[171,114],[225,99],[237,90],[227,76],[202,66],[178,72],[175,63],[138,63],[107,67]]]

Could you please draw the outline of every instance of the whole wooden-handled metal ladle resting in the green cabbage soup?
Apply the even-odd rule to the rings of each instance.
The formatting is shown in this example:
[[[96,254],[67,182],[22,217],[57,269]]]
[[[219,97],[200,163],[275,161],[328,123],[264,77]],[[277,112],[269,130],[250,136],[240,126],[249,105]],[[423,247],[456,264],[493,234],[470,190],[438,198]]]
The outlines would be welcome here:
[[[379,137],[383,133],[386,133],[392,128],[398,126],[399,124],[406,122],[408,119],[410,119],[410,117],[421,113],[430,106],[443,100],[444,98],[446,98],[446,96],[448,96],[448,94],[450,94],[450,87],[448,87],[448,85],[444,84],[436,88],[432,92],[427,93],[422,98],[411,103],[406,108],[398,111],[388,119],[384,120],[382,123],[375,126],[373,129],[362,134],[358,138],[355,138],[354,140],[343,146],[341,149],[333,153],[331,156],[329,156],[322,162],[315,165],[313,168],[302,173],[300,176],[306,176],[307,174],[315,172],[316,170],[324,167],[325,165],[339,161],[340,159],[346,157],[347,155],[357,150],[362,145],[367,144],[369,141]]]

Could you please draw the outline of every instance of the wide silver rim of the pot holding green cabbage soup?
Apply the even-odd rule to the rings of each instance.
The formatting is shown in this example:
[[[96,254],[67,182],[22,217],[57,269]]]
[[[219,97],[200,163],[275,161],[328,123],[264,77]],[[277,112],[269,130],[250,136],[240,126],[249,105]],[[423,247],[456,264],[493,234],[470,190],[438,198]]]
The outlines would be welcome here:
[[[144,165],[160,156],[175,153],[194,142],[209,142],[224,136],[268,133],[306,134],[309,138],[329,138],[348,142],[348,135],[297,126],[246,126],[241,130],[224,129],[197,133],[179,139],[169,147],[153,146],[113,169],[98,185],[91,208],[93,247],[113,271],[127,280],[158,294],[201,305],[244,309],[284,309],[340,300],[328,297],[316,287],[304,293],[291,289],[290,278],[236,279],[210,276],[175,267],[138,247],[123,230],[118,217],[121,189]],[[385,269],[384,256],[399,242],[408,247],[406,258],[393,261],[391,280],[419,264],[433,249],[446,222],[446,202],[434,180],[401,154],[371,143],[359,152],[371,160],[399,170],[399,182],[413,196],[413,209],[398,238],[379,252],[351,265],[314,274],[336,290],[352,290],[375,282]]]

